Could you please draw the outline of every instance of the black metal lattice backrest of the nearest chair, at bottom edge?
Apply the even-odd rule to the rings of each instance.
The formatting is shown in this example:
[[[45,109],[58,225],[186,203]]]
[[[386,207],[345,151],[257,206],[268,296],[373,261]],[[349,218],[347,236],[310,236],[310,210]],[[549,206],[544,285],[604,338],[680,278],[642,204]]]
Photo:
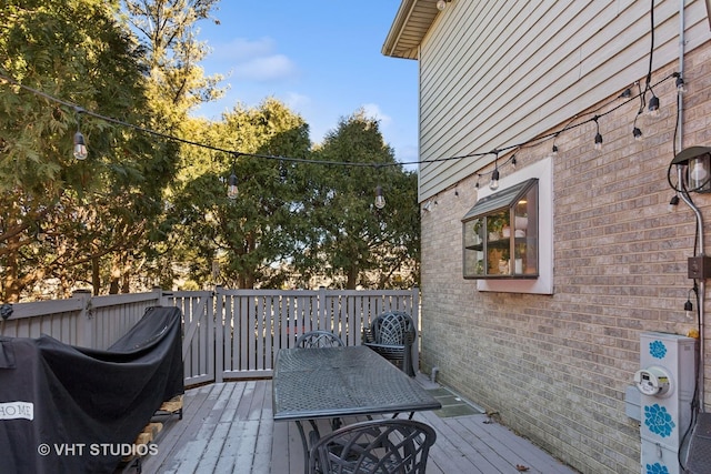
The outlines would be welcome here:
[[[309,452],[309,473],[423,474],[434,430],[414,420],[354,423],[322,436]]]

